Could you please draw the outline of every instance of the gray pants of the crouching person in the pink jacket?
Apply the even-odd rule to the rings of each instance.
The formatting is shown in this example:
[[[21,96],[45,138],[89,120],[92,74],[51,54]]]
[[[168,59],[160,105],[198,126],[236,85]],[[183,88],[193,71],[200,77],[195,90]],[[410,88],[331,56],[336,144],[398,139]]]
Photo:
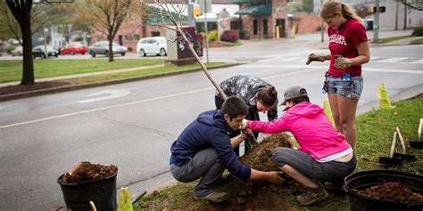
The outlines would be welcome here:
[[[357,165],[355,155],[348,162],[330,161],[320,163],[307,152],[291,148],[277,148],[273,152],[273,160],[278,167],[286,164],[294,167],[305,176],[323,182],[343,180],[351,174]]]

